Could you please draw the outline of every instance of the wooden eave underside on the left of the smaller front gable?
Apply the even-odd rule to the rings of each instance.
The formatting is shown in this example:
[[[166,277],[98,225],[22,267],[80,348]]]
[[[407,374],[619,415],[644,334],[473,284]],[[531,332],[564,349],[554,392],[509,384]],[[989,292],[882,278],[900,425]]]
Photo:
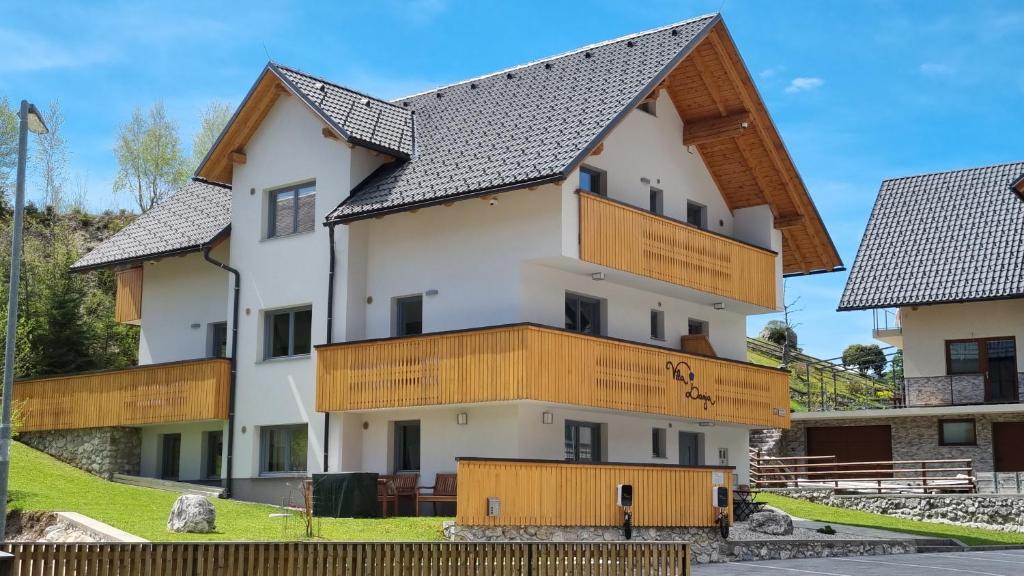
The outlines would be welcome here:
[[[228,122],[227,130],[200,165],[197,175],[215,182],[231,183],[233,165],[246,163],[245,146],[249,138],[256,133],[278,98],[288,93],[281,79],[269,69],[264,70]]]

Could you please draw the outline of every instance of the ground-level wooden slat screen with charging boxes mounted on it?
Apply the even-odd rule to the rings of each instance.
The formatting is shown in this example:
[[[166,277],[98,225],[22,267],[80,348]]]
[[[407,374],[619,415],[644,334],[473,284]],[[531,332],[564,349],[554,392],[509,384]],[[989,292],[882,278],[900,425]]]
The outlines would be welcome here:
[[[634,526],[715,526],[713,474],[721,475],[721,486],[731,486],[731,470],[725,468],[464,459],[459,460],[456,521],[467,526],[622,526],[615,486],[632,484]],[[497,517],[487,516],[488,497],[501,500]]]

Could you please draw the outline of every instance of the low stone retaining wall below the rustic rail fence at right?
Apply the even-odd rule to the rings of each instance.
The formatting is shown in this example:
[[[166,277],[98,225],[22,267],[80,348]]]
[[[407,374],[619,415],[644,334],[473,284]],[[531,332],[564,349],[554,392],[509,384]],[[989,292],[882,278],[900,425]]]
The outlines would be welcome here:
[[[995,494],[837,495],[831,490],[791,490],[787,496],[828,506],[907,520],[939,522],[1004,532],[1024,532],[1024,496]]]

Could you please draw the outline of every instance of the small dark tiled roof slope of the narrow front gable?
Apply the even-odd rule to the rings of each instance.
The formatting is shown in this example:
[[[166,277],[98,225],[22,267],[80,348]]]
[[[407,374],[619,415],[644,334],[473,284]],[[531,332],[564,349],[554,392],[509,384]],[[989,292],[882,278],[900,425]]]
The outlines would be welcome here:
[[[413,154],[413,113],[276,64],[270,68],[313,108],[327,116],[352,143],[377,148],[399,158]]]

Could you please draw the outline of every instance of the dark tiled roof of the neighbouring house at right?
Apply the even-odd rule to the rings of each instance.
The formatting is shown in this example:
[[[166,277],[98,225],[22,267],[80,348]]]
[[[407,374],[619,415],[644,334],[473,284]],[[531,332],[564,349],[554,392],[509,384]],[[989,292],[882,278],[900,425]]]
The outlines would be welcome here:
[[[882,182],[840,310],[1024,296],[1024,162]]]

